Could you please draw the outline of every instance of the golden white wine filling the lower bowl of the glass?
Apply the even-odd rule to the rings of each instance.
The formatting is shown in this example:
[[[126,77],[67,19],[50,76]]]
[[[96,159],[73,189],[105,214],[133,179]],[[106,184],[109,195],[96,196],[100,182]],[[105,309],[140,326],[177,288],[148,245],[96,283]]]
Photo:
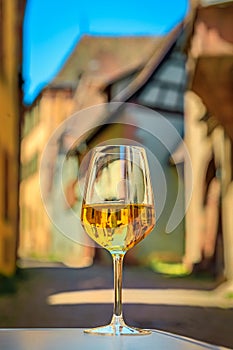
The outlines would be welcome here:
[[[152,205],[84,204],[81,222],[87,234],[110,252],[126,252],[155,226]]]

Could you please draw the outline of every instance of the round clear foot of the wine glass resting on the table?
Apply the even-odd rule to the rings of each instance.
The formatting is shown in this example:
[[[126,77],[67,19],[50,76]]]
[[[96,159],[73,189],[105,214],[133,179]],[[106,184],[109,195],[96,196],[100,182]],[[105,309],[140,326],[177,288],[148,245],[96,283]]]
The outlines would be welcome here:
[[[84,333],[94,335],[149,335],[148,329],[129,327],[125,324],[122,316],[113,316],[109,325],[85,329]]]

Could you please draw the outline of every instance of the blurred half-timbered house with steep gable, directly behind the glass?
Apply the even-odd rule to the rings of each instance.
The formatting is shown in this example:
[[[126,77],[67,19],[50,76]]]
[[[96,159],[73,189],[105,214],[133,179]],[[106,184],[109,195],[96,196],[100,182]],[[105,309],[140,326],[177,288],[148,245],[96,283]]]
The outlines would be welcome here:
[[[113,78],[104,92],[108,102],[115,105],[115,111],[105,111],[93,118],[93,128],[85,133],[85,139],[79,140],[80,143],[85,141],[87,149],[102,143],[123,142],[139,143],[150,151],[158,221],[140,247],[127,253],[126,259],[134,263],[179,262],[184,252],[183,178],[169,162],[183,135],[185,34],[180,25],[168,35],[157,38],[157,45],[143,66],[138,65]],[[84,120],[83,124],[88,125],[88,121]],[[180,221],[177,220],[169,235],[166,226],[178,192],[176,214]]]

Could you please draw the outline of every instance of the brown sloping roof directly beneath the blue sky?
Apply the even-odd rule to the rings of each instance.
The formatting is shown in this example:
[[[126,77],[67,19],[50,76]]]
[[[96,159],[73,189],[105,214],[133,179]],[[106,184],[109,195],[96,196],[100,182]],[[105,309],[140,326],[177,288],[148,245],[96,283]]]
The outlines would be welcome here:
[[[159,37],[105,37],[85,35],[50,86],[61,83],[74,86],[80,75],[90,74],[103,84],[147,61]]]

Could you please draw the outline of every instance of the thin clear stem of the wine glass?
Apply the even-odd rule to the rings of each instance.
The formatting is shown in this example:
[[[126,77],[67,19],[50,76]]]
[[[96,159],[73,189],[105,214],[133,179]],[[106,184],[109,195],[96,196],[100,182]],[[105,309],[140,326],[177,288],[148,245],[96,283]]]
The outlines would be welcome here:
[[[112,254],[114,268],[114,309],[113,317],[122,317],[122,271],[124,254]]]

